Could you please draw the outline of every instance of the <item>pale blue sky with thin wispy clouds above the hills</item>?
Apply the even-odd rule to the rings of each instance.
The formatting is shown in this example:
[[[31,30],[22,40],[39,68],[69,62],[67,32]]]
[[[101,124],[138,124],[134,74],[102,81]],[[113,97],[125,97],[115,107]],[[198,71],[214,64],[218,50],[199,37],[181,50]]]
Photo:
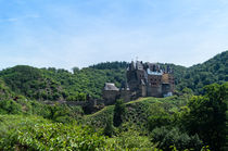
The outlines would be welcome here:
[[[227,0],[0,0],[0,68],[136,58],[190,66],[225,50]]]

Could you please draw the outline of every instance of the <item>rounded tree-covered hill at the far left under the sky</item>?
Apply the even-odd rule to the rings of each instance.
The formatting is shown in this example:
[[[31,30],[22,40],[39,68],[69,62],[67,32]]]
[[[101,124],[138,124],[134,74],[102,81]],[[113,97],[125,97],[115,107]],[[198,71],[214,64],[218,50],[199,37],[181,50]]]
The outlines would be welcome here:
[[[45,76],[36,67],[17,65],[0,72],[5,85],[16,95],[36,100],[58,100],[62,97],[60,83]]]

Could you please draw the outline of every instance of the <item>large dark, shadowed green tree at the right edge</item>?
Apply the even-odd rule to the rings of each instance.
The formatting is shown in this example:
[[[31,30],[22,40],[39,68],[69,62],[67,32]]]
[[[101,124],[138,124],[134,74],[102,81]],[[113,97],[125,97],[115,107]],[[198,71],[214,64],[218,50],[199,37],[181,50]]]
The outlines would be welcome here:
[[[199,134],[212,150],[221,150],[226,143],[228,83],[206,86],[205,91],[205,96],[191,99],[190,111],[182,115],[181,123],[191,135]]]

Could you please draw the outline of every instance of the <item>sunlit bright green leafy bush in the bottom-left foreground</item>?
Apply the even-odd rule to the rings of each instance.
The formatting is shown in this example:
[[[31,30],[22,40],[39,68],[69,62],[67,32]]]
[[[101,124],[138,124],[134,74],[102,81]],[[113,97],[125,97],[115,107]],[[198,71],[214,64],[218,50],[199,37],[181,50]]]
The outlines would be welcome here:
[[[0,150],[84,150],[105,146],[89,127],[51,123],[36,116],[0,115]]]

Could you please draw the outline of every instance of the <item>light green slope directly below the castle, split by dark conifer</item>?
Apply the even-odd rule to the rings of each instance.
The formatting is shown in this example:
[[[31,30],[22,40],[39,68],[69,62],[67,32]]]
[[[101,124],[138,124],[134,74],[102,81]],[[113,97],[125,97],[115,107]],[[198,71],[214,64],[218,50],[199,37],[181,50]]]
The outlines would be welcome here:
[[[140,98],[135,101],[126,103],[126,115],[124,123],[138,126],[140,129],[148,128],[148,118],[150,115],[164,111],[167,114],[177,112],[181,106],[187,104],[190,96],[168,98]],[[114,105],[105,106],[101,111],[87,115],[85,123],[96,126],[104,127],[107,118],[113,116]]]

